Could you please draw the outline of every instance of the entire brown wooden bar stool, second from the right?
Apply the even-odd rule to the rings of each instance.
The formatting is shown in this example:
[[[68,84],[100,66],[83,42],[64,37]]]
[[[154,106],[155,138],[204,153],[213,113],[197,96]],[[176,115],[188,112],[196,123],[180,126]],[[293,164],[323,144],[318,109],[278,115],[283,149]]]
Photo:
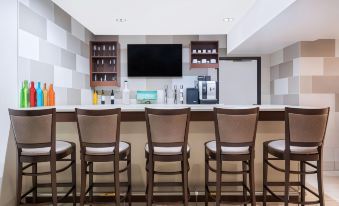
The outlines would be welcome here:
[[[214,108],[214,125],[216,140],[205,143],[205,205],[209,198],[214,198],[209,189],[216,186],[216,205],[256,204],[254,184],[254,148],[258,123],[259,108],[222,109]],[[241,171],[222,169],[223,161],[240,161]],[[216,162],[216,168],[210,162]],[[216,182],[209,180],[209,171],[216,173]],[[223,182],[222,175],[242,175],[240,182]],[[249,186],[247,184],[249,176]],[[222,199],[222,186],[242,186],[243,200],[234,202]],[[247,198],[249,193],[250,198]]]

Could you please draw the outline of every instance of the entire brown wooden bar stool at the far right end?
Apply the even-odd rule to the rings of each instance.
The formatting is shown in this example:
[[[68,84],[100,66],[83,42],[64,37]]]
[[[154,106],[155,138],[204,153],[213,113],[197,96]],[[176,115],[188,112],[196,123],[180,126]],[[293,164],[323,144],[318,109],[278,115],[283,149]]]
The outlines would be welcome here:
[[[284,202],[287,206],[291,204],[320,204],[324,205],[324,191],[322,182],[322,151],[323,142],[327,127],[329,108],[321,109],[302,109],[285,108],[285,140],[273,140],[264,142],[263,158],[263,205],[267,202],[267,192],[272,196]],[[269,155],[273,157],[269,157]],[[282,160],[285,168],[282,169],[272,161]],[[300,170],[293,171],[290,168],[291,161],[297,161],[300,164]],[[315,161],[316,164],[310,162]],[[311,170],[306,170],[306,165]],[[283,182],[268,181],[268,166],[284,173]],[[291,182],[290,175],[300,175],[300,181]],[[312,191],[305,185],[305,176],[307,174],[317,174],[318,193]],[[283,186],[284,197],[281,198],[275,194],[270,186]],[[290,200],[289,188],[297,186],[301,189],[300,199]],[[318,200],[305,201],[305,190],[315,195]]]

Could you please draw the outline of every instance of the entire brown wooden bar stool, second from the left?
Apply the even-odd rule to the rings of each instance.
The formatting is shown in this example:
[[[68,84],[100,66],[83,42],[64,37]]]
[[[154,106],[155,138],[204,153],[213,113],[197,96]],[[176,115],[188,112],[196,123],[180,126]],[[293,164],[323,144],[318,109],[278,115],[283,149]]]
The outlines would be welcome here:
[[[75,109],[81,152],[81,194],[80,205],[100,204],[93,199],[93,188],[114,187],[115,203],[127,199],[131,205],[131,145],[120,141],[121,109],[85,110]],[[117,144],[118,143],[118,144]],[[119,151],[119,152],[116,152]],[[113,171],[94,171],[94,163],[112,162]],[[120,168],[119,163],[123,163]],[[127,182],[120,182],[120,173],[127,172]],[[86,176],[89,187],[86,190]],[[114,182],[94,182],[97,175],[113,175]],[[120,187],[126,187],[126,193],[120,198]],[[85,201],[89,193],[89,201]],[[102,203],[102,202],[101,202]],[[107,203],[106,203],[107,204]]]

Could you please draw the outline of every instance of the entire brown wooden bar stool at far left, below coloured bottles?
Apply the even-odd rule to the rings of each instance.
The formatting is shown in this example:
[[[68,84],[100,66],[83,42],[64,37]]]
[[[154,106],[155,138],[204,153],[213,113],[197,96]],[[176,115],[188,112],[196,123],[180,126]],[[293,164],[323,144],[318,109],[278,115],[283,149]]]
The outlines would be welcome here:
[[[9,109],[11,127],[17,147],[17,200],[16,205],[28,205],[22,203],[22,199],[32,193],[33,204],[42,204],[38,197],[38,188],[51,187],[52,201],[44,204],[57,205],[58,202],[73,196],[73,205],[76,205],[76,153],[75,144],[66,141],[56,141],[55,109],[41,110],[13,110]],[[70,156],[70,158],[66,158]],[[57,169],[57,162],[66,162],[67,165]],[[50,164],[50,170],[38,172],[38,163]],[[71,168],[72,181],[70,183],[58,183],[57,173]],[[31,172],[26,171],[31,169]],[[51,183],[38,183],[38,177],[50,175]],[[22,195],[22,180],[24,176],[32,177],[33,187]],[[69,187],[68,192],[61,198],[57,197],[57,187]]]

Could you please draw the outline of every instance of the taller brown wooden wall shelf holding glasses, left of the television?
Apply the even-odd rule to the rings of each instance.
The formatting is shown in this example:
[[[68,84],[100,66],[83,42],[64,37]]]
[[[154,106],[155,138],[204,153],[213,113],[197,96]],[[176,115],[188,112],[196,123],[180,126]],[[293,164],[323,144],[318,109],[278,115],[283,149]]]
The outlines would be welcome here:
[[[117,41],[90,42],[90,85],[120,86],[120,45]]]

